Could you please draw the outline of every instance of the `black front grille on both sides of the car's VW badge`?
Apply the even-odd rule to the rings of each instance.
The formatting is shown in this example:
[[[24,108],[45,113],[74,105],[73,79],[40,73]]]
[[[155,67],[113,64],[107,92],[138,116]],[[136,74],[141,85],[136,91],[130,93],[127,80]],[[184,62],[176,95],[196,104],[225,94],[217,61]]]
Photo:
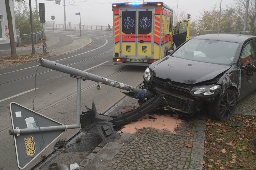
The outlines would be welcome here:
[[[155,86],[164,88],[164,83],[166,82],[166,79],[161,79],[159,77],[154,77],[153,76],[153,82],[155,83]],[[177,92],[185,92],[186,95],[188,95],[189,91],[191,90],[192,86],[184,83],[177,83],[177,82],[172,82],[171,81],[171,88],[172,90],[175,90]]]

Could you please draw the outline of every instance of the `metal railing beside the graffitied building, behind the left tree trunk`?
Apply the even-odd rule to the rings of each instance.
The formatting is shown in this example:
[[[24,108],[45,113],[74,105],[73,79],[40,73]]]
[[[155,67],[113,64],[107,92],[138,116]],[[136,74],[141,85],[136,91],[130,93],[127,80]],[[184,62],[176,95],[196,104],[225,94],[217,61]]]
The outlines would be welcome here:
[[[43,32],[39,31],[33,34],[34,35],[34,43],[39,43],[40,39],[43,38]],[[23,46],[23,45],[30,45],[31,44],[31,34],[23,34],[23,35],[17,35],[17,47]]]

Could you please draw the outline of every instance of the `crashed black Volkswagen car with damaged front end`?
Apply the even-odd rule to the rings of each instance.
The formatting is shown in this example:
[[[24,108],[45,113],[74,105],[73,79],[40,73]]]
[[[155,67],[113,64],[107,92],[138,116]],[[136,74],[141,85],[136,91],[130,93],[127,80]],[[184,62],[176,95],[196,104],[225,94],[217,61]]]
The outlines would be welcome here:
[[[256,89],[256,36],[206,34],[194,37],[152,63],[144,87],[164,94],[160,108],[184,114],[233,116],[236,102]]]

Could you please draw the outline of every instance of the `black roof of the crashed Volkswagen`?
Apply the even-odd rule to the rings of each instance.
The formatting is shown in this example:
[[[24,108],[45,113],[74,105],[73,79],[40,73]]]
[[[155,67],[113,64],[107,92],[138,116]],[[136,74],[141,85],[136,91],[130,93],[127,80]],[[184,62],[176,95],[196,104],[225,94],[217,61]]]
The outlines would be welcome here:
[[[253,39],[253,38],[256,38],[256,36],[244,35],[244,34],[205,34],[205,35],[196,36],[192,39],[210,39],[210,40],[242,43],[248,39]]]

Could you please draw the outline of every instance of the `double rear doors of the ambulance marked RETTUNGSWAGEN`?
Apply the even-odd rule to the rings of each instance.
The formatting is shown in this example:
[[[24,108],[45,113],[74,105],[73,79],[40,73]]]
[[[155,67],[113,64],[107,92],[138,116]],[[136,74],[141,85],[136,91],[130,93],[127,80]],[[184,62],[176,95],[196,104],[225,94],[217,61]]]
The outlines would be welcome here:
[[[121,9],[121,56],[131,62],[153,58],[154,9]],[[129,62],[129,61],[128,61]]]

